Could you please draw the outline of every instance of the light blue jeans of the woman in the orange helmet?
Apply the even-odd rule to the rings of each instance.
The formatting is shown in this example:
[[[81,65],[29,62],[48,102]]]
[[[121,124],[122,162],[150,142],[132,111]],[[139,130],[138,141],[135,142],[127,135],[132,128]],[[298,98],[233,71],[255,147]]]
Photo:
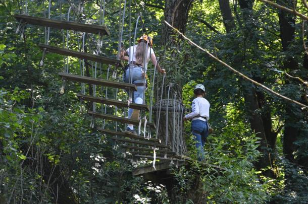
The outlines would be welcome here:
[[[130,70],[132,71],[132,76],[130,76]],[[134,66],[131,68],[128,68],[126,70],[126,73],[124,75],[124,82],[129,83],[130,77],[132,77],[132,83],[145,83],[145,79],[142,75],[142,67],[140,66]],[[134,94],[132,96],[132,102],[142,104],[143,103],[143,94],[144,94],[144,86],[137,86],[137,91],[134,91]],[[131,117],[133,113],[133,109],[128,109],[128,118]]]

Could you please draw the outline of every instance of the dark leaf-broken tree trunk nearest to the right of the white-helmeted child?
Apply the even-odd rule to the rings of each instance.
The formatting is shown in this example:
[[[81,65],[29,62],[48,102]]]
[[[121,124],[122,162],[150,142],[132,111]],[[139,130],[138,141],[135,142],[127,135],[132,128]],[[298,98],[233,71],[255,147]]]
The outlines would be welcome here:
[[[252,16],[252,6],[254,1],[253,0],[240,0],[239,5],[242,11],[242,18],[244,24],[246,25],[246,33],[247,38],[245,39],[246,42],[251,43],[250,37],[252,36],[254,28],[253,25],[248,25]],[[249,30],[248,30],[249,29]],[[253,42],[252,42],[253,43]],[[257,42],[255,44],[251,44],[250,46],[258,46]],[[246,48],[244,48],[246,49]],[[258,49],[258,48],[255,48]],[[245,60],[245,59],[243,59]],[[256,81],[261,82],[257,76],[254,76]],[[247,117],[250,121],[250,127],[252,131],[256,133],[256,136],[261,138],[261,143],[258,150],[262,153],[262,157],[259,158],[258,162],[255,164],[256,168],[258,169],[267,169],[263,172],[265,176],[274,178],[276,175],[273,171],[273,162],[271,159],[270,154],[270,147],[275,146],[276,137],[275,134],[272,133],[272,119],[271,119],[271,111],[269,107],[266,107],[266,100],[264,93],[261,91],[257,91],[256,88],[252,85],[245,85],[246,88],[244,91],[244,99],[245,99],[245,106],[247,109]],[[269,146],[268,141],[271,141],[273,146]]]

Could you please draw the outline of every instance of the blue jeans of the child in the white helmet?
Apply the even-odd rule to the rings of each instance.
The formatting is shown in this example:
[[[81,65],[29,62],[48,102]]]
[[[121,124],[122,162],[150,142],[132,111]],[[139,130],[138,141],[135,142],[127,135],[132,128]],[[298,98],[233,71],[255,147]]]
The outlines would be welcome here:
[[[196,142],[198,161],[202,161],[204,160],[203,147],[209,135],[208,122],[203,120],[192,120],[191,130]]]

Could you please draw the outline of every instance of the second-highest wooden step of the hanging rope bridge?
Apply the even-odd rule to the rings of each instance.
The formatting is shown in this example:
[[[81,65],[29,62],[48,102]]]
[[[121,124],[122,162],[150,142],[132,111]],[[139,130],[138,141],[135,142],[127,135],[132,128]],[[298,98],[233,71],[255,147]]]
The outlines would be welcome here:
[[[72,56],[72,57],[77,57],[80,59],[88,59],[90,61],[97,61],[100,63],[105,63],[105,64],[111,64],[111,65],[117,65],[123,67],[124,64],[120,59],[115,59],[115,58],[110,58],[110,57],[105,57],[105,56],[99,56],[95,54],[89,54],[85,52],[78,52],[70,49],[65,49],[61,47],[55,47],[51,45],[46,45],[46,44],[38,44],[38,46],[41,49],[46,49],[48,52],[53,52],[57,54],[62,54],[66,56]]]

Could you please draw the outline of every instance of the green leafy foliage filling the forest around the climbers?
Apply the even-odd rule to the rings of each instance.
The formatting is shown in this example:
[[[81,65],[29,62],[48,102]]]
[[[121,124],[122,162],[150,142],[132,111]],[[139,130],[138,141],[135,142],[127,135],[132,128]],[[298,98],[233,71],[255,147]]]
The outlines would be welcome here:
[[[62,4],[62,16],[59,2]],[[79,2],[70,1],[75,5]],[[82,22],[99,24],[99,1],[85,2],[85,16],[71,12],[70,20],[77,21],[79,17]],[[105,23],[111,36],[104,37],[101,53],[114,56],[118,46],[119,2],[106,2]],[[79,84],[66,83],[65,93],[60,94],[62,81],[57,73],[63,70],[64,57],[47,53],[44,66],[39,66],[42,52],[37,44],[45,43],[45,28],[27,25],[24,36],[20,38],[19,34],[15,34],[18,23],[13,14],[22,11],[22,1],[6,0],[0,1],[0,203],[56,203],[57,188],[53,188],[54,182],[48,183],[44,175],[49,168],[58,167],[60,174],[55,170],[53,176],[59,180],[65,179],[64,183],[71,187],[79,203],[263,203],[270,199],[277,203],[305,203],[308,197],[307,171],[299,163],[304,163],[308,156],[306,112],[256,88],[264,93],[267,105],[255,114],[270,110],[273,130],[281,130],[280,126],[284,127],[285,121],[292,121],[291,125],[300,129],[294,142],[294,161],[291,163],[284,157],[282,128],[278,132],[276,147],[271,152],[278,177],[262,176],[265,169],[259,171],[254,168],[260,158],[256,150],[260,143],[251,131],[244,100],[245,88],[251,84],[242,81],[187,42],[177,39],[177,36],[174,36],[171,47],[161,47],[164,10],[146,4],[164,7],[164,2],[136,1],[138,10],[134,1],[131,2],[131,25],[128,5],[125,14],[125,48],[133,44],[132,31],[138,12],[142,12],[147,33],[154,37],[156,54],[168,72],[166,82],[174,83],[176,91],[181,92],[183,103],[190,107],[192,89],[196,83],[206,86],[207,99],[211,103],[210,122],[215,129],[204,148],[206,162],[227,170],[219,171],[211,165],[195,162],[196,150],[187,122],[185,138],[193,160],[190,169],[183,166],[174,169],[178,182],[175,189],[177,200],[170,200],[165,186],[146,182],[143,177],[132,177],[134,167],[130,156],[127,156],[129,154],[112,149],[114,143],[91,128],[91,123],[95,126],[104,123],[86,116],[88,104],[78,102],[76,97],[81,90]],[[296,70],[287,67],[283,71],[307,79],[302,49],[302,38],[306,37],[301,34],[301,22],[297,20],[294,25],[295,38],[290,42],[290,48],[283,52],[276,10],[255,2],[253,10],[244,14],[250,15],[250,18],[245,18],[238,5],[231,1],[230,6],[236,25],[232,33],[225,33],[219,2],[210,0],[193,1],[185,34],[249,77],[292,99],[302,100],[306,94],[304,86],[273,71],[283,69],[285,59],[291,57],[298,67]],[[54,19],[67,20],[69,7],[68,1],[52,1],[50,15]],[[303,9],[299,8],[299,11]],[[28,1],[29,15],[42,17],[47,10],[47,1]],[[200,19],[215,27],[219,33],[213,32]],[[139,22],[136,35],[141,33]],[[66,45],[63,34],[66,31],[50,29],[49,44],[59,47]],[[97,44],[91,41],[95,42],[98,38],[89,36],[86,36],[85,42],[91,52]],[[69,31],[70,48],[77,50],[81,39],[80,33]],[[105,79],[107,65],[103,64],[101,69],[97,77]],[[69,71],[80,74],[79,60],[69,58]],[[149,72],[152,72],[152,67],[149,67]],[[94,75],[91,65],[89,74]],[[151,94],[151,86],[147,97]],[[86,90],[89,90],[87,85]],[[96,94],[104,97],[105,91],[105,88],[97,88]],[[107,96],[127,99],[123,91],[116,94],[114,90],[109,90]],[[102,106],[97,104],[96,108]],[[288,109],[293,115],[286,114]],[[108,108],[107,112],[114,113],[114,109]],[[124,116],[123,111],[117,114]],[[115,124],[106,123],[106,127],[114,128]],[[50,166],[41,169],[43,164]]]

